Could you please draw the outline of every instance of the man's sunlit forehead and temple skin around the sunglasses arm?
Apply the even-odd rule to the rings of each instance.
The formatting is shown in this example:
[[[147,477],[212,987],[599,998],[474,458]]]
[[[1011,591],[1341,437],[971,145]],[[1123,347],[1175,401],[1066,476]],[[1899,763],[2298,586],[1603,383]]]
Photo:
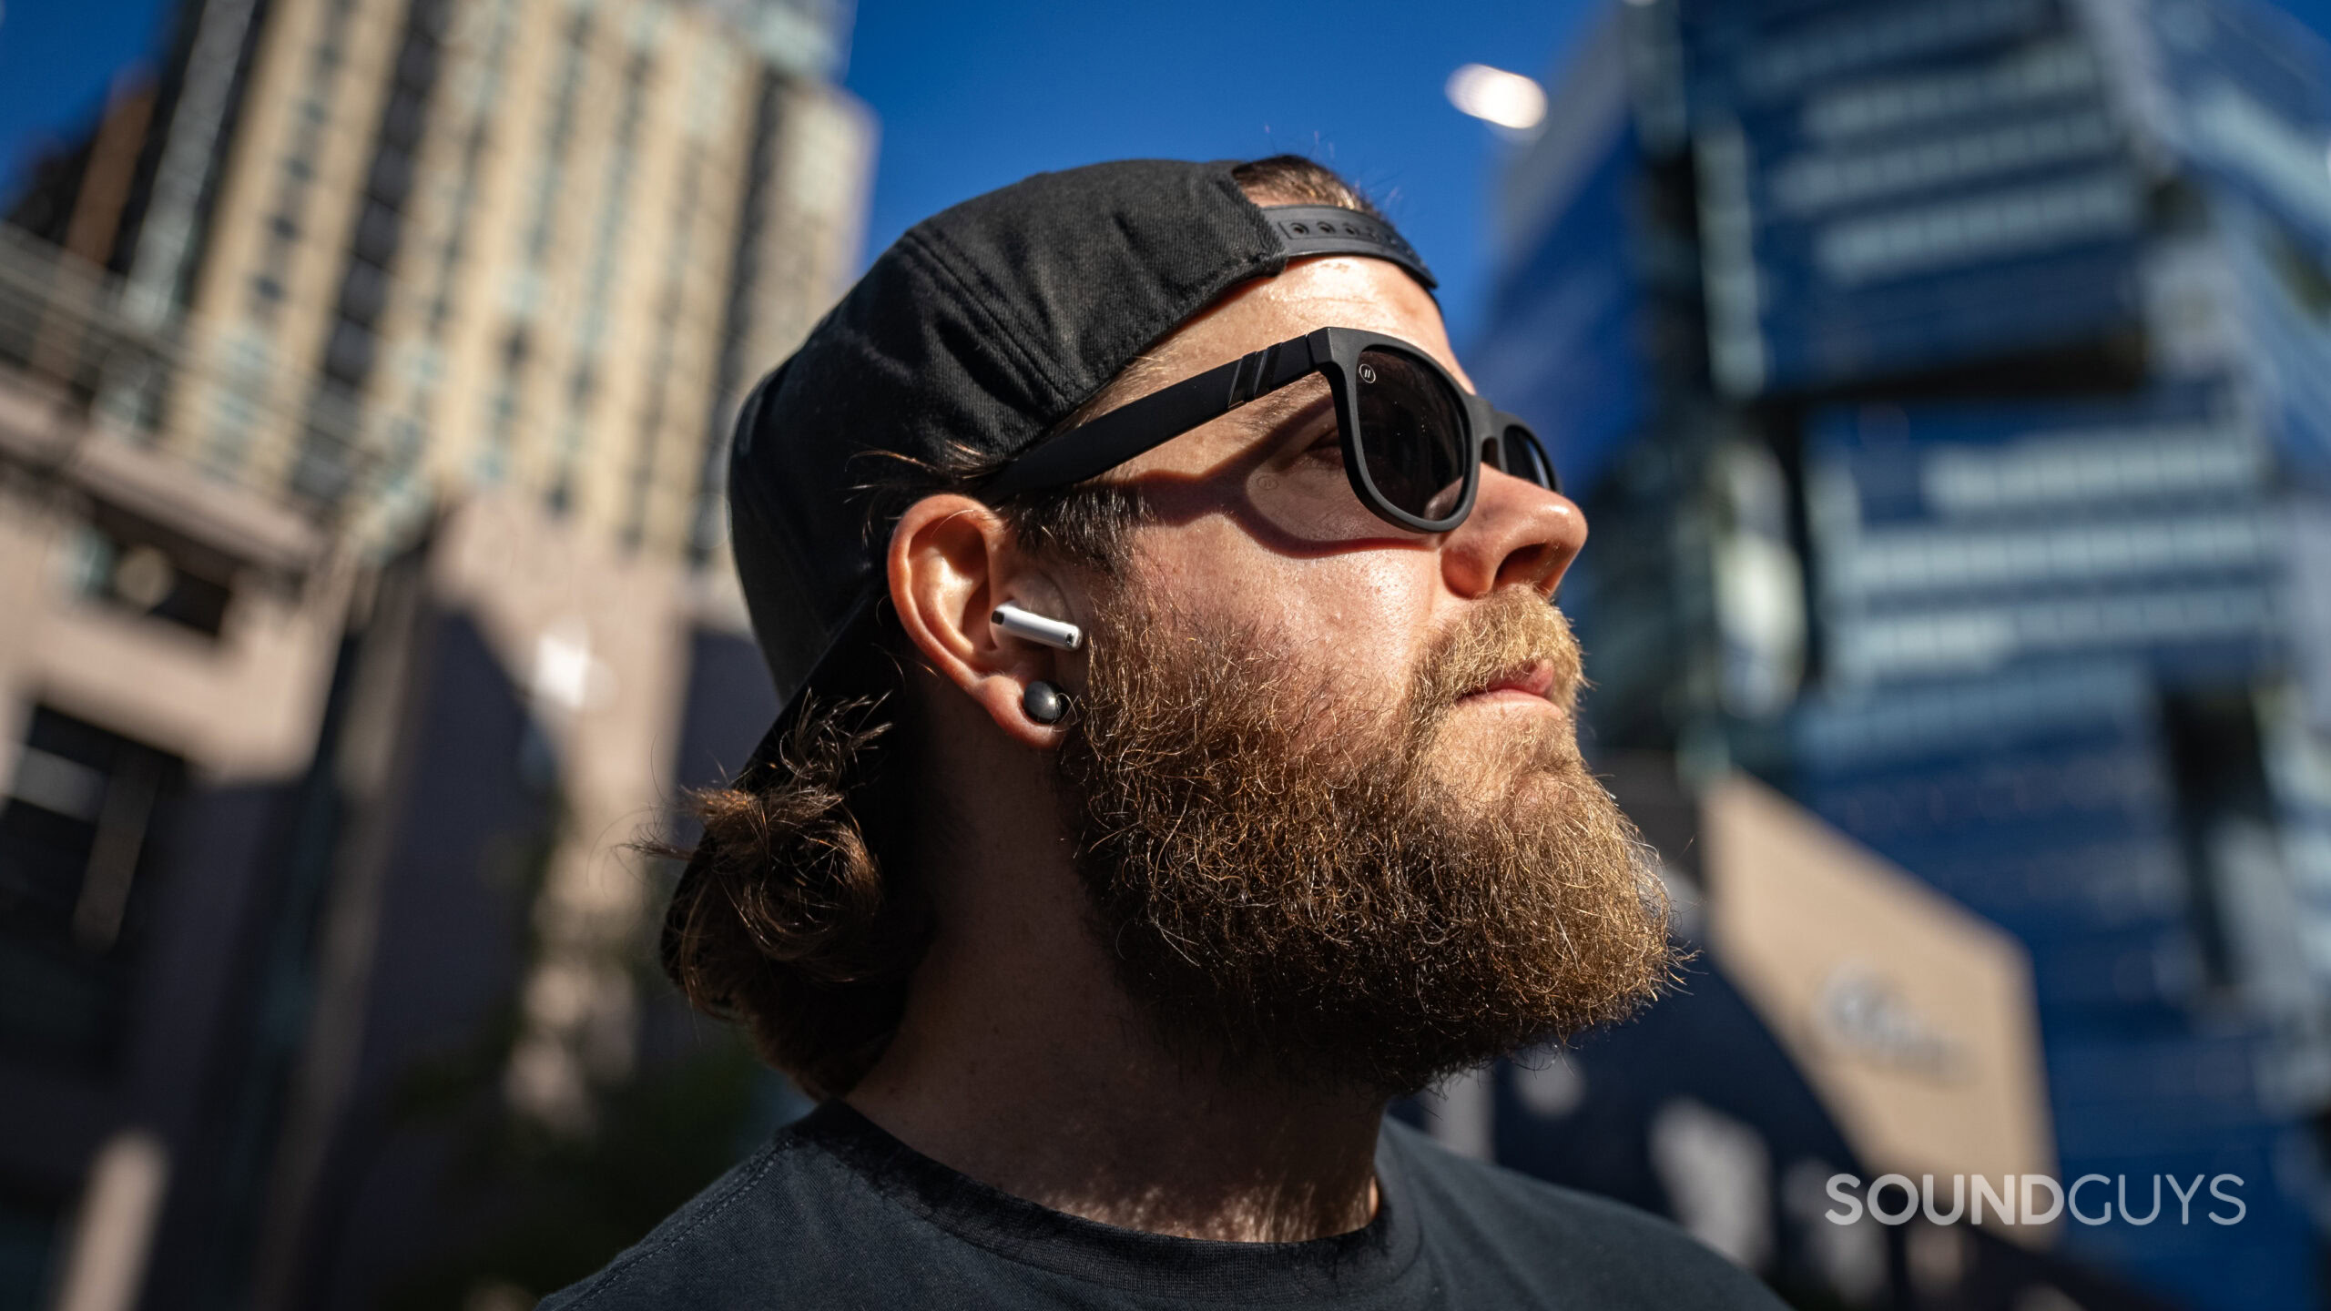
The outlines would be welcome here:
[[[1359,254],[1298,259],[1277,278],[1259,278],[1214,301],[1205,313],[1175,329],[1149,350],[1152,392],[1217,364],[1228,364],[1252,350],[1277,345],[1322,327],[1352,327],[1396,336],[1424,348],[1466,387],[1473,385],[1457,366],[1441,306],[1396,264]],[[1131,397],[1128,397],[1131,399]],[[1263,406],[1256,406],[1263,411]],[[1182,434],[1121,467],[1124,476],[1154,469],[1196,467],[1219,457],[1231,443],[1254,436],[1254,418],[1233,411],[1196,432]]]

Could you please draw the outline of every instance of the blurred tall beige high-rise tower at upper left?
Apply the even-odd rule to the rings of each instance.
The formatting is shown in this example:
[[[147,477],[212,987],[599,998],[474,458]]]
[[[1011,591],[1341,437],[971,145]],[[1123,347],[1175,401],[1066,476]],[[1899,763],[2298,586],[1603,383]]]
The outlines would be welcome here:
[[[161,441],[366,539],[510,488],[704,555],[732,397],[855,273],[872,124],[823,82],[834,9],[270,5],[196,240],[149,222],[128,261],[184,296]]]

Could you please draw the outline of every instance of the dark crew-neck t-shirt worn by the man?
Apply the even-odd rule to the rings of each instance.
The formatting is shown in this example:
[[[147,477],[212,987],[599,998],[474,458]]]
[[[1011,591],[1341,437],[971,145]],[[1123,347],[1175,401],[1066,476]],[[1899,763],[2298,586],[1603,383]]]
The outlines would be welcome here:
[[[1704,1306],[1779,1311],[1641,1211],[1469,1162],[1394,1120],[1364,1229],[1224,1243],[1023,1201],[830,1101],[541,1311],[723,1306]]]

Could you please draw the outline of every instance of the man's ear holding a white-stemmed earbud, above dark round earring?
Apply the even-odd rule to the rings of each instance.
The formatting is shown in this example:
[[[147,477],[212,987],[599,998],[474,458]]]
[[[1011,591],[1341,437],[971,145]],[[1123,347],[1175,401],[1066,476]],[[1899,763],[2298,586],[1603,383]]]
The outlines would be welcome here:
[[[995,628],[1002,602],[1082,623],[1065,590],[1030,567],[1009,525],[970,497],[923,497],[890,530],[890,604],[923,660],[963,688],[1014,742],[1051,749],[1061,728],[1028,716],[1021,697],[1044,679],[1065,688],[1063,651]],[[1082,672],[1082,669],[1079,669]]]

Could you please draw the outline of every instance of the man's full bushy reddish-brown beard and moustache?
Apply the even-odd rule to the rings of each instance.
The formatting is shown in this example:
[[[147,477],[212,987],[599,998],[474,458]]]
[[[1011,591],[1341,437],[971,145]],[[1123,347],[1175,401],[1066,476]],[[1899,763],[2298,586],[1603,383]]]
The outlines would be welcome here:
[[[1079,872],[1179,1054],[1406,1094],[1655,996],[1667,898],[1569,716],[1464,760],[1462,788],[1436,772],[1464,693],[1548,660],[1571,704],[1578,644],[1536,595],[1476,607],[1385,709],[1124,595],[1093,628],[1061,749]]]

